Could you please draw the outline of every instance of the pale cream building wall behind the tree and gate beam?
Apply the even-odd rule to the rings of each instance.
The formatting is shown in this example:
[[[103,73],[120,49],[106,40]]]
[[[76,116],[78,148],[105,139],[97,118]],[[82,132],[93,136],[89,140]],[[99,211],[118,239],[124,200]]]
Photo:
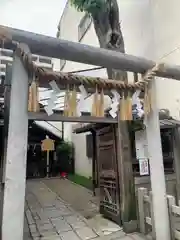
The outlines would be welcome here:
[[[118,4],[126,53],[155,61],[180,64],[179,0],[118,0]],[[78,25],[83,16],[83,13],[77,12],[67,3],[59,25],[60,37],[78,42]],[[81,43],[99,46],[93,24]],[[91,67],[93,66],[66,62],[63,71]],[[104,77],[106,71],[89,74]],[[132,80],[131,76],[132,74],[129,74],[129,81]],[[174,118],[180,119],[180,83],[170,79],[159,79],[157,90],[159,108],[168,108]],[[73,141],[76,139],[73,138]],[[85,141],[81,141],[81,146],[84,149],[83,142]]]

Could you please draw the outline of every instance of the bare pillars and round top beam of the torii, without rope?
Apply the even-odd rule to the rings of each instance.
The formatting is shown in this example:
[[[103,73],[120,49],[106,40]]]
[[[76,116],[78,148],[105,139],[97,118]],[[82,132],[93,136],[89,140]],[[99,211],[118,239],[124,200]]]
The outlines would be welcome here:
[[[155,63],[152,61],[121,54],[119,52],[116,53],[110,50],[82,46],[81,44],[77,43],[57,40],[55,38],[0,26],[0,31],[1,30],[6,30],[11,35],[11,39],[8,39],[7,44],[5,44],[5,48],[14,49],[15,44],[13,41],[24,42],[25,44],[28,44],[32,52],[36,54],[57,58],[64,56],[64,59],[67,60],[94,65],[103,65],[104,67],[112,67],[124,71],[133,71],[138,73],[145,73],[146,70],[155,65]],[[15,55],[14,60],[11,86],[12,91],[5,174],[2,236],[3,239],[22,240],[27,147],[26,138],[28,130],[28,115],[27,109],[25,110],[25,106],[27,108],[29,75],[26,72],[23,64],[20,63],[21,60],[17,55]],[[16,72],[17,69],[19,71],[18,74]],[[19,75],[22,76],[22,79],[19,77]],[[156,75],[180,80],[180,66],[164,65],[164,68],[160,71],[157,71]],[[24,91],[19,91],[17,86],[20,85],[24,86]],[[169,217],[167,201],[165,197],[166,188],[160,139],[159,116],[156,102],[156,80],[153,80],[151,85],[154,94],[152,102],[153,111],[148,115],[146,124],[156,239],[169,240]],[[19,107],[18,111],[17,105],[21,106]],[[19,116],[17,116],[17,112],[19,113]],[[22,131],[22,127],[24,131]],[[16,135],[14,135],[14,133],[16,133]],[[23,147],[21,144],[17,145],[17,139]],[[120,139],[120,142],[121,141],[123,141],[123,139]],[[14,156],[16,159],[18,159],[18,163],[13,161]],[[19,170],[22,170],[20,174],[17,174],[16,172],[17,165]],[[122,159],[121,166],[123,169],[124,162]],[[124,177],[124,171],[122,170],[122,178],[125,179]],[[12,179],[14,181],[12,181]],[[15,197],[15,206],[12,206],[12,197]],[[17,210],[15,211],[14,209],[16,207]]]

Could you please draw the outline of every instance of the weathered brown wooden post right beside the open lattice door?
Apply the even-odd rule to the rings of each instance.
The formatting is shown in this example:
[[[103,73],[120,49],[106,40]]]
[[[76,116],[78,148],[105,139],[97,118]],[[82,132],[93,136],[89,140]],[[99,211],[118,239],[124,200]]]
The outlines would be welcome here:
[[[124,231],[132,232],[137,230],[137,214],[131,147],[127,128],[128,123],[120,121],[118,116],[117,158],[120,175],[121,218]]]

